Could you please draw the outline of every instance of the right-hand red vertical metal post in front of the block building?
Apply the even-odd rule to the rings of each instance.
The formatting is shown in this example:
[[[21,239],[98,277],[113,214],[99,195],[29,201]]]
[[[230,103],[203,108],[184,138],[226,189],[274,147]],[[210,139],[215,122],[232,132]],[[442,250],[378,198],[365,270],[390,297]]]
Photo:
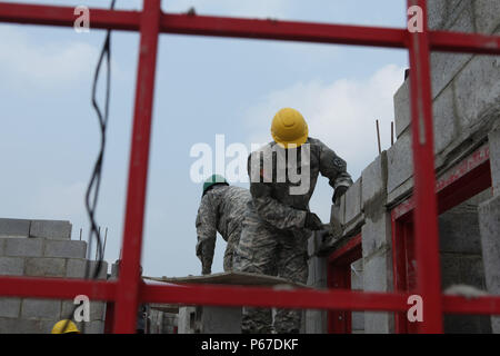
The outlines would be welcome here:
[[[419,323],[418,330],[442,333],[427,1],[408,0],[408,7],[412,6],[423,10],[423,31],[409,33],[417,291],[423,299],[423,323]]]

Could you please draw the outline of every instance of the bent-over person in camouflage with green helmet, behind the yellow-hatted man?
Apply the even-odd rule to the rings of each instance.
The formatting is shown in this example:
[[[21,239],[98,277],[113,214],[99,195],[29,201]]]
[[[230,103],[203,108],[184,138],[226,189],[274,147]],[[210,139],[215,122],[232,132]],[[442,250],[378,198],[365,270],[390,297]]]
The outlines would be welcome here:
[[[241,234],[241,222],[251,196],[248,189],[229,186],[221,176],[213,175],[203,185],[203,196],[197,216],[197,256],[201,273],[209,275],[216,249],[217,231],[228,243],[224,271],[232,270],[234,248]]]

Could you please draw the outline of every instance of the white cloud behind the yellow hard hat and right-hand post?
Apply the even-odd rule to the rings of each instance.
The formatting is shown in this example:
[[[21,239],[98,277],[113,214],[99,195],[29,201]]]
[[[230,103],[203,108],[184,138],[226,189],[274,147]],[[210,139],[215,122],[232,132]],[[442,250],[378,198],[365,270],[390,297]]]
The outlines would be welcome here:
[[[388,65],[364,79],[298,82],[270,92],[246,113],[249,142],[269,141],[276,111],[292,107],[306,117],[310,135],[342,156],[353,176],[359,176],[378,155],[376,119],[380,120],[382,146],[390,144],[393,95],[402,81],[403,68]]]

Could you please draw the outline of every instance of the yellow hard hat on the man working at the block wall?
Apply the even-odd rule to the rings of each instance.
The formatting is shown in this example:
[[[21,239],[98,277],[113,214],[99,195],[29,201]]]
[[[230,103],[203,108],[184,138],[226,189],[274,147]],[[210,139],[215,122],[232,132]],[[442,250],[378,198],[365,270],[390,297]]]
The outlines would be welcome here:
[[[302,113],[284,108],[272,119],[271,135],[274,141],[284,148],[289,145],[299,147],[308,140],[309,129]]]

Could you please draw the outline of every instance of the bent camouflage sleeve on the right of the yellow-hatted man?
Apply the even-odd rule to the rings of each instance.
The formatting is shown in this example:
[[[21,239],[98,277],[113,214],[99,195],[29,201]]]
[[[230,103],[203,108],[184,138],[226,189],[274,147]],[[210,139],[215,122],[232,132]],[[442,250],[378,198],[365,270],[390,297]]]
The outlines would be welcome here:
[[[327,145],[320,144],[320,172],[330,179],[330,186],[337,188],[339,186],[350,187],[352,185],[351,175],[347,172],[347,164],[333,152]]]

